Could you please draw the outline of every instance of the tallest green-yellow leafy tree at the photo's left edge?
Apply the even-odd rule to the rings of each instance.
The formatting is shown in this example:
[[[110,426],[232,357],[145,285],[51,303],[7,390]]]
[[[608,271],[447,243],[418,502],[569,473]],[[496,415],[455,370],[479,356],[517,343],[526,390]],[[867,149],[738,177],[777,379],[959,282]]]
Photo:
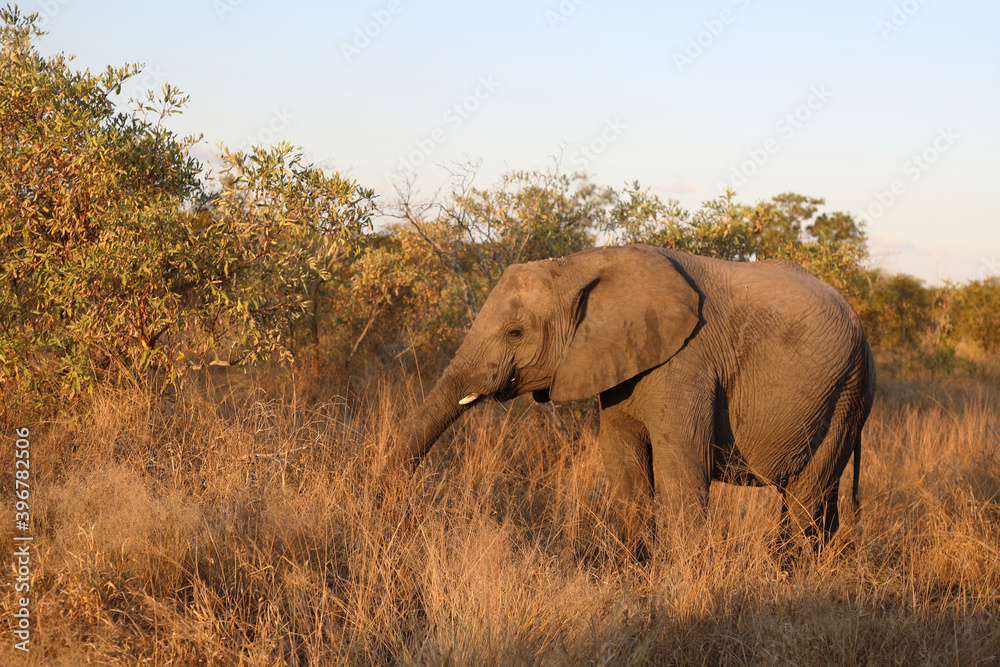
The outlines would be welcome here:
[[[97,348],[148,348],[161,333],[135,288],[177,242],[150,228],[172,230],[177,202],[196,190],[194,140],[163,127],[185,102],[169,86],[158,109],[115,111],[109,95],[137,65],[73,71],[35,50],[37,15],[8,7],[0,18],[0,382],[54,363],[78,391]]]

